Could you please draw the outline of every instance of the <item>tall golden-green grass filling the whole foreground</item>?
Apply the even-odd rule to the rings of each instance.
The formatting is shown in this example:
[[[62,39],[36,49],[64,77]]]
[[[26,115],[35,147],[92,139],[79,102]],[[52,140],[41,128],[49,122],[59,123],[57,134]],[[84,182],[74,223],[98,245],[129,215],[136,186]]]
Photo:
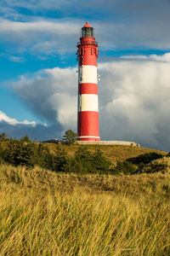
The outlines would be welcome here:
[[[169,255],[170,175],[0,166],[0,255]]]

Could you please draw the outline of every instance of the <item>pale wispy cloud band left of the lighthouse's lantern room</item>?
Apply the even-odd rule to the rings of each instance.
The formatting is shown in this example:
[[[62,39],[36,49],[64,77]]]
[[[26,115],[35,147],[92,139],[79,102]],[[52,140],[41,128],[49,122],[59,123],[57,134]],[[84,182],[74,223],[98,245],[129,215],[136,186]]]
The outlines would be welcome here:
[[[34,18],[25,22],[0,19],[0,38],[9,52],[63,55],[75,49],[80,26],[78,20],[72,19]]]

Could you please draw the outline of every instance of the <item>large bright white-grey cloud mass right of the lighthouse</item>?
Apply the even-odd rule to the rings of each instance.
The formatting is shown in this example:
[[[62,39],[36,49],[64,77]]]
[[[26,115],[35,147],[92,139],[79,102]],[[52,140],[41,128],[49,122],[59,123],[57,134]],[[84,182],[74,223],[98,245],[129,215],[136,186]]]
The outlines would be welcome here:
[[[101,135],[169,150],[170,54],[104,63]]]

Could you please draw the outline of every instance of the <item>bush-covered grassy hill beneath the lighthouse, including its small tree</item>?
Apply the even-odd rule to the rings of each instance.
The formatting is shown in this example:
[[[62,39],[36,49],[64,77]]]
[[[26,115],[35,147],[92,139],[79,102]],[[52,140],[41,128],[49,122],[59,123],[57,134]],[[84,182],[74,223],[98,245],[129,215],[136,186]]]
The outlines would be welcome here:
[[[31,142],[27,136],[20,140],[8,138],[3,133],[0,135],[0,163],[27,168],[40,166],[54,172],[80,174],[129,175],[163,170],[163,166],[151,170],[147,166],[152,160],[161,159],[166,155],[161,151],[130,146],[74,145],[72,143],[75,136],[73,131],[65,131],[66,144],[56,145]],[[144,151],[147,152],[140,154]]]

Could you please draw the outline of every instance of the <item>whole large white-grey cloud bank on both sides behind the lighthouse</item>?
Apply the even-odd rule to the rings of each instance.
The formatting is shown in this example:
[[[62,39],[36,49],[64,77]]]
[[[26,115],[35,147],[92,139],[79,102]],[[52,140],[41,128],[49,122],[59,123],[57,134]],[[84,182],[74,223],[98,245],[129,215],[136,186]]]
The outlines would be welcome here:
[[[23,75],[13,83],[27,108],[48,127],[53,126],[51,138],[56,137],[56,132],[61,137],[64,130],[77,129],[76,70],[45,69]],[[129,140],[169,150],[169,70],[170,54],[122,57],[99,64],[102,140]]]

